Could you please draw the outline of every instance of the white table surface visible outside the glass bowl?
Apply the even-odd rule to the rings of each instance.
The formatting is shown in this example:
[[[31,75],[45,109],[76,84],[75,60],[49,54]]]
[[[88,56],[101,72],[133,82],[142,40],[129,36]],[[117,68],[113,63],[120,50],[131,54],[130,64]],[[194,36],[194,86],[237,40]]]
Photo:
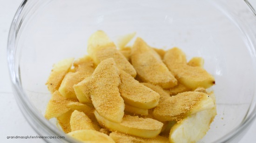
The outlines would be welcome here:
[[[42,139],[7,139],[8,136],[36,136],[20,112],[12,93],[7,69],[7,37],[13,16],[22,0],[0,0],[0,143],[44,143]],[[256,7],[256,0],[250,0]],[[256,121],[239,143],[255,143]]]

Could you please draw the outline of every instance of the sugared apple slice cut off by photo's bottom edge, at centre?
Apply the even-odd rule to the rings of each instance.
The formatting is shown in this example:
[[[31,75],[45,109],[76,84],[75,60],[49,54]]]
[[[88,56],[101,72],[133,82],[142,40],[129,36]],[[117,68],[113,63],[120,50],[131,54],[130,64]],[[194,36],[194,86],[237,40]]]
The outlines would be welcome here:
[[[157,136],[154,138],[143,138],[127,135],[117,131],[111,132],[109,137],[111,137],[115,143],[169,143],[167,137]]]

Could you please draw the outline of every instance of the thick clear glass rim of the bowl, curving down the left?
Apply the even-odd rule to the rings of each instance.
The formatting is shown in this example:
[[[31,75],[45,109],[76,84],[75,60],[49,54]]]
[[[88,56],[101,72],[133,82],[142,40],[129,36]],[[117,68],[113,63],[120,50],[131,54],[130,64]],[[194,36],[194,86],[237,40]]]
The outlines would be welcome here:
[[[23,116],[26,118],[30,126],[32,126],[34,131],[36,131],[40,136],[43,136],[45,132],[47,132],[49,133],[48,135],[51,135],[51,136],[65,137],[64,140],[70,143],[80,143],[74,140],[72,137],[67,137],[64,132],[57,130],[56,127],[54,127],[45,118],[43,118],[43,116],[39,112],[37,112],[36,109],[34,109],[32,103],[29,102],[29,99],[27,98],[26,93],[23,91],[22,86],[20,84],[18,69],[15,68],[15,53],[16,53],[15,43],[17,40],[16,39],[17,33],[18,33],[17,31],[19,30],[20,23],[22,22],[22,19],[20,19],[20,14],[21,12],[24,11],[24,7],[27,5],[28,1],[32,1],[32,0],[23,0],[19,8],[17,9],[17,12],[14,15],[14,18],[9,30],[9,36],[8,36],[8,42],[7,42],[7,62],[8,62],[9,75],[12,81],[13,93],[15,95],[14,97],[16,99],[16,102]],[[39,1],[43,1],[43,0],[39,0]],[[249,1],[248,0],[243,0],[243,1],[249,6],[251,11],[256,16],[256,11],[253,8],[253,6],[251,6]],[[256,95],[254,95],[254,98],[256,98]],[[247,116],[247,118],[245,118],[242,121],[240,125],[235,127],[232,131],[229,131],[229,133],[227,133],[225,136],[218,139],[216,143],[226,143],[232,140],[234,137],[237,137],[242,133],[245,133],[246,129],[249,128],[250,124],[253,123],[255,118],[256,118],[256,107],[253,109],[251,114],[249,114],[249,116]],[[48,142],[47,139],[44,139],[44,140]]]

